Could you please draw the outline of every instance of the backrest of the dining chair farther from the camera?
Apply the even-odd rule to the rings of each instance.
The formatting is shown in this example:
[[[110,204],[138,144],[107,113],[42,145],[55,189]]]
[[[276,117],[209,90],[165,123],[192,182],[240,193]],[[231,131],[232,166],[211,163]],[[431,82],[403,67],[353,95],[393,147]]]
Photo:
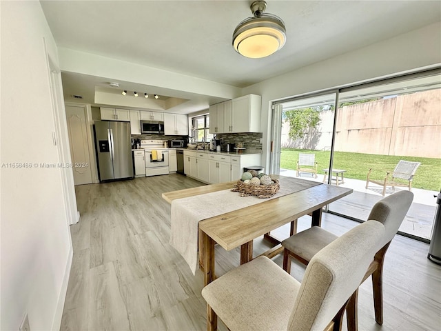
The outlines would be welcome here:
[[[389,243],[396,235],[407,211],[411,207],[412,200],[412,192],[400,191],[381,199],[373,205],[367,219],[379,221],[384,225],[384,237],[378,244],[377,250]]]

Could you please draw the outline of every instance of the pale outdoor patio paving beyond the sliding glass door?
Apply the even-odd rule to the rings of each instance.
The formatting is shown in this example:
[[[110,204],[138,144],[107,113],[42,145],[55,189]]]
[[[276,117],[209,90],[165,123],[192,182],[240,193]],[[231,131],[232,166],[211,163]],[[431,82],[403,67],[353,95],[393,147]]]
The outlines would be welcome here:
[[[280,175],[287,177],[296,177],[296,170],[280,169]],[[318,178],[314,178],[312,174],[300,173],[301,179],[309,181],[323,181],[323,174],[317,174]],[[333,177],[335,179],[335,176]],[[333,181],[335,185],[335,180]],[[345,214],[356,219],[367,219],[371,207],[380,199],[382,199],[382,187],[369,183],[369,188],[366,188],[366,181],[358,179],[345,178],[344,183],[339,184],[345,188],[352,188],[353,193],[347,197],[331,203],[329,210]],[[407,190],[407,188],[396,188],[398,190]],[[411,234],[416,237],[424,239],[431,238],[433,217],[435,215],[436,199],[439,192],[422,190],[419,188],[412,188],[413,203],[407,216],[400,226],[400,231]],[[391,188],[387,188],[386,196],[392,194]]]

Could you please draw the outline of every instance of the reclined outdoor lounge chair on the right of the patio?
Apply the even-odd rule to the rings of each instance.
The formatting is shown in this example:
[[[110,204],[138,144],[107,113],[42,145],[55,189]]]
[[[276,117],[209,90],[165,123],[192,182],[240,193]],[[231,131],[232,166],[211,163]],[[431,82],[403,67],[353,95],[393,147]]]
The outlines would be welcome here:
[[[386,171],[384,179],[371,179],[374,168],[369,168],[366,179],[366,188],[368,188],[369,182],[381,185],[383,187],[382,195],[386,193],[386,187],[391,186],[395,191],[396,186],[407,186],[409,191],[412,188],[413,176],[420,166],[420,162],[411,162],[400,160],[393,171]]]

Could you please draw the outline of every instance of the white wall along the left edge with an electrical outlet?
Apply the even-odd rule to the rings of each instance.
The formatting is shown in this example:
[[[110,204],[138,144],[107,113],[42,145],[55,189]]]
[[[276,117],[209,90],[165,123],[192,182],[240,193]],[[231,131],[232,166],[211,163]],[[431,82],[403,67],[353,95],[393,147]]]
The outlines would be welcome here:
[[[57,47],[39,1],[0,1],[1,14],[1,330],[59,330],[72,243],[52,143],[47,55]],[[8,168],[30,163],[32,168]],[[35,165],[37,163],[37,166]]]

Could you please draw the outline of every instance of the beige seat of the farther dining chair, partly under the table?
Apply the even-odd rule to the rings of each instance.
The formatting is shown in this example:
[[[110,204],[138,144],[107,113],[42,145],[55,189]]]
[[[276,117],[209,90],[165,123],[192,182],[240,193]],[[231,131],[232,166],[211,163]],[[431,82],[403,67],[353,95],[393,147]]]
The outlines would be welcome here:
[[[337,238],[338,236],[335,234],[318,226],[313,226],[285,239],[282,241],[282,245],[290,252],[309,262],[319,250],[322,250],[322,248]]]

